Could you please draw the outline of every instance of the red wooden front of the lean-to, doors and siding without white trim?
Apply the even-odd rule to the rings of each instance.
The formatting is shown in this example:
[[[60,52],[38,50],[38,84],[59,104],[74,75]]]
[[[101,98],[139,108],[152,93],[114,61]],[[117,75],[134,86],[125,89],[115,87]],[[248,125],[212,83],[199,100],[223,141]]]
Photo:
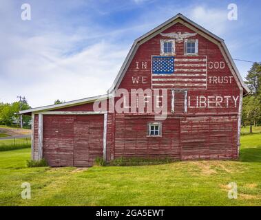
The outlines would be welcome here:
[[[105,100],[105,102],[107,102]],[[53,111],[94,111],[93,103]],[[112,157],[114,115],[107,115],[106,159]],[[43,115],[43,157],[50,166],[92,166],[103,157],[104,115]],[[39,116],[34,116],[34,158],[39,158]]]

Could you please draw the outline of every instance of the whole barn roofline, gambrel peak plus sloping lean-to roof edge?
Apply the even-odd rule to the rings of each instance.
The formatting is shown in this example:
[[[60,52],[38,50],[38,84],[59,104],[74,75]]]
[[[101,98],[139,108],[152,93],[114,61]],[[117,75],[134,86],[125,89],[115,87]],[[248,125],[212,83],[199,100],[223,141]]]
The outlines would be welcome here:
[[[129,53],[127,54],[125,61],[123,62],[123,65],[118,72],[118,75],[116,76],[114,83],[112,87],[107,91],[107,94],[102,95],[102,96],[94,96],[94,97],[89,97],[89,98],[83,98],[80,100],[73,100],[70,102],[63,102],[61,104],[52,104],[44,107],[37,107],[33,109],[28,109],[24,111],[19,111],[20,114],[26,114],[26,113],[31,113],[31,112],[38,112],[38,111],[48,111],[48,110],[53,110],[53,109],[61,109],[65,107],[70,107],[74,105],[79,105],[79,104],[85,104],[88,102],[94,102],[96,100],[104,100],[107,98],[112,98],[113,96],[113,91],[115,89],[118,89],[118,86],[121,84],[121,80],[125,76],[125,72],[127,71],[127,68],[129,67],[129,64],[132,61],[132,58],[134,57],[136,51],[138,50],[139,45],[145,43],[149,39],[152,39],[152,37],[156,36],[160,32],[163,32],[167,28],[169,28],[171,25],[174,25],[175,23],[182,23],[183,25],[187,25],[189,28],[197,32],[198,34],[206,37],[207,39],[211,40],[213,43],[216,43],[219,47],[220,50],[222,50],[224,53],[223,55],[225,56],[225,59],[227,62],[230,63],[231,65],[231,72],[233,76],[236,79],[236,82],[240,87],[243,88],[244,94],[249,93],[249,88],[244,85],[244,81],[242,80],[242,77],[240,76],[240,73],[238,71],[238,68],[236,67],[236,64],[233,62],[233,58],[231,57],[231,54],[229,53],[229,50],[227,49],[227,46],[225,45],[225,42],[223,39],[220,37],[216,36],[215,34],[209,32],[207,29],[202,28],[200,25],[195,23],[194,21],[191,21],[187,17],[185,17],[182,14],[176,14],[176,16],[172,17],[171,19],[165,21],[161,25],[158,25],[158,27],[154,28],[153,30],[147,32],[146,34],[143,34],[143,36],[140,36],[138,39],[136,39],[131,47],[131,50],[129,50]]]

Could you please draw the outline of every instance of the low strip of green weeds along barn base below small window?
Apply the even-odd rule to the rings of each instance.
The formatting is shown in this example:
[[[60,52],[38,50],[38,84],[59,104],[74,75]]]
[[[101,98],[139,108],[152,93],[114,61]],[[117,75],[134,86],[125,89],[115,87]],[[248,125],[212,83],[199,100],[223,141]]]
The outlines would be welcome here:
[[[157,164],[169,164],[173,162],[173,159],[165,158],[156,158],[156,159],[148,159],[148,158],[124,158],[120,157],[109,162],[111,166],[140,166],[140,165],[157,165]]]

